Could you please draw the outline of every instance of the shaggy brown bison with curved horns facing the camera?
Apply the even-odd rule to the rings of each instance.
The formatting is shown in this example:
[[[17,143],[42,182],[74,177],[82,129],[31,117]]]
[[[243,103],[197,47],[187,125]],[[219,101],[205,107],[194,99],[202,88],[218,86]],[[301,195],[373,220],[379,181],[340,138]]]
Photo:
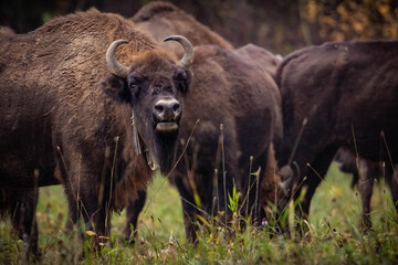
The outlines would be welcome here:
[[[182,44],[181,61],[94,9],[0,38],[1,210],[18,199],[9,189],[62,183],[69,222],[82,215],[97,242],[108,234],[108,214],[145,189],[154,161],[171,167],[193,53],[168,40]]]

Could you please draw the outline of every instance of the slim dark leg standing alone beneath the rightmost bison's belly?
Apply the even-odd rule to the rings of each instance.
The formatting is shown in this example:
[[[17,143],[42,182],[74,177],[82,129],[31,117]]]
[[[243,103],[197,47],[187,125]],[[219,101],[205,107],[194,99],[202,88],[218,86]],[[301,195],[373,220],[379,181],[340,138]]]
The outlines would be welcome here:
[[[370,198],[374,187],[374,178],[377,173],[377,165],[366,159],[359,159],[358,190],[362,199],[362,223],[360,227],[369,230],[370,221]]]

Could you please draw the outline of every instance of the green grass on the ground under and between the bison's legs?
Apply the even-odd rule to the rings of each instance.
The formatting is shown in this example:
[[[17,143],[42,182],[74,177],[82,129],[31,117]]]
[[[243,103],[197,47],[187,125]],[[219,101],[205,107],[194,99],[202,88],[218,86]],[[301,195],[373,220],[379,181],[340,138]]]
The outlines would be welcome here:
[[[360,199],[349,188],[350,177],[333,165],[311,206],[308,235],[270,237],[269,231],[248,229],[227,236],[199,235],[196,247],[185,239],[177,190],[160,177],[149,187],[135,246],[121,243],[125,212],[112,218],[113,247],[96,256],[76,231],[64,230],[66,200],[61,187],[40,190],[39,246],[43,264],[397,264],[398,223],[389,191],[379,182],[371,198],[374,230],[360,232]],[[8,220],[0,221],[0,264],[19,264],[23,243],[14,240]],[[205,232],[203,232],[205,233]]]

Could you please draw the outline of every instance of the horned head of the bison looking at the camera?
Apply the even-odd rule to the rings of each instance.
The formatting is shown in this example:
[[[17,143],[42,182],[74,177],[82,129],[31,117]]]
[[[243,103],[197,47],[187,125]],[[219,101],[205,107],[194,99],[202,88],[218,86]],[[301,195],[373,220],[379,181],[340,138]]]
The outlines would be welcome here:
[[[155,158],[163,173],[169,172],[172,166],[184,96],[192,78],[189,67],[193,61],[192,45],[186,38],[174,35],[164,41],[169,40],[182,45],[181,61],[155,49],[142,52],[128,67],[115,56],[117,46],[127,41],[113,42],[106,53],[113,75],[103,83],[108,95],[130,105],[136,151],[146,156],[151,167]]]

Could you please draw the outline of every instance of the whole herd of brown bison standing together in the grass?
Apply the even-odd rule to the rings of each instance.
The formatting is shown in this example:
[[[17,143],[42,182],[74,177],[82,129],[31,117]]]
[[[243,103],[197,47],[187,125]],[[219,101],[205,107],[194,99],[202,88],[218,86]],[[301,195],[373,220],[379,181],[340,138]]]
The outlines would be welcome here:
[[[307,218],[337,151],[358,178],[364,229],[379,161],[398,201],[397,41],[280,61],[154,2],[130,19],[91,9],[28,34],[1,29],[0,51],[0,211],[28,252],[38,254],[39,187],[62,184],[67,226],[82,219],[97,244],[126,208],[134,241],[157,168],[178,189],[191,242],[203,213],[228,226],[234,189],[239,214],[261,226],[270,204],[280,213],[307,187],[296,209]]]

